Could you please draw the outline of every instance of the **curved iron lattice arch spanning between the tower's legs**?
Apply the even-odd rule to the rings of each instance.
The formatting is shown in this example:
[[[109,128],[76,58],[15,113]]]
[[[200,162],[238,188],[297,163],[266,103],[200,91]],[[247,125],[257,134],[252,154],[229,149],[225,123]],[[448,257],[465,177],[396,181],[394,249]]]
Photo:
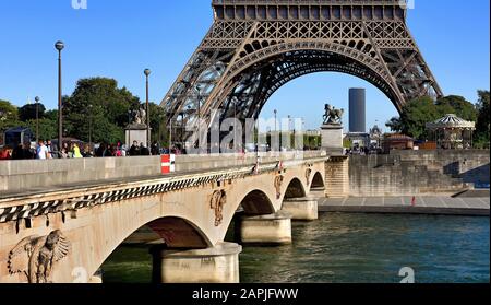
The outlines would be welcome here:
[[[213,90],[204,113],[221,108],[221,119],[259,117],[267,99],[286,83],[315,72],[358,77],[381,90],[400,113],[406,99],[370,44],[291,42],[243,52]],[[405,92],[406,95],[416,94]]]

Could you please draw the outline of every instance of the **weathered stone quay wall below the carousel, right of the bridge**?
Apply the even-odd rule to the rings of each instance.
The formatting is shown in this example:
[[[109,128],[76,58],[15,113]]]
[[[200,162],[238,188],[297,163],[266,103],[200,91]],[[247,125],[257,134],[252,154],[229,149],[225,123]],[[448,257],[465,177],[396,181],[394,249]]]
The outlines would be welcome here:
[[[393,151],[351,156],[352,197],[452,193],[489,184],[489,151]]]

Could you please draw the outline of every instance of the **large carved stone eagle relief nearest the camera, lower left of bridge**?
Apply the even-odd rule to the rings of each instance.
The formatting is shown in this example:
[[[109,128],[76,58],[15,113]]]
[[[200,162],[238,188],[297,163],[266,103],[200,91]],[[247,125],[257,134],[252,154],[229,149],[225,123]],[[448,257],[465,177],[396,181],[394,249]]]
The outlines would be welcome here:
[[[29,283],[49,283],[53,263],[65,258],[70,248],[70,241],[59,230],[47,236],[28,236],[10,251],[9,273],[24,273]]]

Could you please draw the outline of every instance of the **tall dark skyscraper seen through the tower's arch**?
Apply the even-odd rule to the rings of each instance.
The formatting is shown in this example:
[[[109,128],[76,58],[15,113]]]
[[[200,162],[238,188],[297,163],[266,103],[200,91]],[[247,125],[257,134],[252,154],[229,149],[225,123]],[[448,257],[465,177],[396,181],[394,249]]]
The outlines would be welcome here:
[[[349,132],[367,132],[367,101],[364,89],[349,90]]]

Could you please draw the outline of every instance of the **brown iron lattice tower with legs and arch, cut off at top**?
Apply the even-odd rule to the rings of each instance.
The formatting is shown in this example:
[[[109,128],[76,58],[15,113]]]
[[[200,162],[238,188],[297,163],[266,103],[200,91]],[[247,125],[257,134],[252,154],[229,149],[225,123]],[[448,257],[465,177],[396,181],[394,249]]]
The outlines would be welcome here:
[[[256,118],[304,74],[335,71],[380,89],[397,110],[442,96],[406,26],[405,0],[213,0],[214,23],[161,102],[170,122]],[[168,122],[169,122],[168,121]]]

